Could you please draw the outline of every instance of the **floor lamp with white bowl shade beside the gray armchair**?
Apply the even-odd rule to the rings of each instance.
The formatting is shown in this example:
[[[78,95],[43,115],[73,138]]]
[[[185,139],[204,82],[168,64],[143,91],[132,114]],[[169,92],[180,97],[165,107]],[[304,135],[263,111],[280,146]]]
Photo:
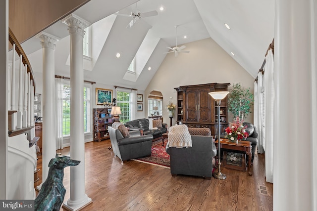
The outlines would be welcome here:
[[[215,101],[217,101],[218,107],[218,171],[213,172],[212,176],[216,179],[226,179],[226,175],[220,171],[220,103],[221,100],[229,94],[229,91],[214,91],[209,92],[209,94]]]

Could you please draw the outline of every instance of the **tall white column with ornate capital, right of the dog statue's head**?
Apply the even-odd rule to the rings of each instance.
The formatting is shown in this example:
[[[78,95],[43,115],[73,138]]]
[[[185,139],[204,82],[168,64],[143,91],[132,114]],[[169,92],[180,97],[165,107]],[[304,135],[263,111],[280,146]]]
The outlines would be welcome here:
[[[70,34],[70,157],[80,161],[70,167],[70,198],[63,207],[76,211],[91,203],[85,194],[85,136],[84,136],[84,29],[90,23],[70,14],[63,23],[68,25]]]

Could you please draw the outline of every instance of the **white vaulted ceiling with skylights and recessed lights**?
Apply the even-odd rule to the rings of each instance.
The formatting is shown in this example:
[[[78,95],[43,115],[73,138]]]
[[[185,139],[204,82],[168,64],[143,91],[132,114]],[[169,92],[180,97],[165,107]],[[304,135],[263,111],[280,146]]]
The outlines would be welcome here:
[[[159,14],[141,19],[132,28],[126,28],[129,17],[109,16],[117,11],[125,14],[134,11],[134,2],[91,0],[74,12],[99,29],[93,31],[97,33],[93,42],[99,47],[98,53],[93,53],[92,71],[84,71],[86,80],[108,84],[107,80],[111,79],[111,84],[145,90],[166,55],[163,52],[168,51],[166,46],[175,46],[176,25],[177,45],[212,38],[254,78],[273,40],[274,0],[140,0],[137,6],[141,13],[157,10]],[[163,11],[159,10],[161,6]],[[66,60],[70,39],[66,25],[58,21],[45,32],[61,38],[56,43],[55,72],[69,76]],[[42,50],[38,43],[39,40],[31,38],[22,46],[29,54],[33,70],[42,72],[42,62],[39,62]],[[115,58],[116,52],[121,53],[119,59]],[[125,80],[126,70],[136,55],[144,58],[143,67],[135,80]],[[152,69],[148,71],[150,66]]]

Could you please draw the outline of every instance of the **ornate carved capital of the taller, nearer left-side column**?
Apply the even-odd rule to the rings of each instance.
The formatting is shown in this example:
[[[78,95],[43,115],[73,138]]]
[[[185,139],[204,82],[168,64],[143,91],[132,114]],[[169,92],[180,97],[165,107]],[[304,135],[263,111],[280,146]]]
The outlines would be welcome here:
[[[69,34],[79,34],[82,37],[85,35],[84,29],[86,29],[88,26],[91,25],[88,21],[85,21],[84,19],[78,17],[77,15],[70,14],[64,19],[62,19],[62,22],[68,26],[68,32]]]

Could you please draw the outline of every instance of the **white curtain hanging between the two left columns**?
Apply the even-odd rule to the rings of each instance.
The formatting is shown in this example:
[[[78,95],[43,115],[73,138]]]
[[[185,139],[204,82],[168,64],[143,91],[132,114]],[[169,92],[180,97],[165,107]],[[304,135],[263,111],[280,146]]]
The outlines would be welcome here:
[[[56,150],[63,149],[63,82],[55,78]]]

